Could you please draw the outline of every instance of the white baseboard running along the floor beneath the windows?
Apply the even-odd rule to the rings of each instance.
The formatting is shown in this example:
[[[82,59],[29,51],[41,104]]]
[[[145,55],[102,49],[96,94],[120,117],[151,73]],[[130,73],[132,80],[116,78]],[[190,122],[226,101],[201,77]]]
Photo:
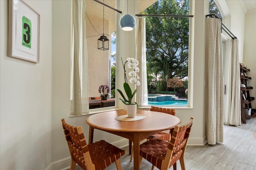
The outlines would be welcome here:
[[[141,143],[145,142],[145,140],[141,141]],[[188,139],[188,144],[187,145],[205,145],[207,143],[206,137],[204,138],[189,138]],[[114,143],[111,143],[112,145],[118,147],[118,148],[123,148],[129,145],[129,140],[128,139],[122,139],[120,141],[116,141]],[[70,163],[71,159],[70,157],[64,158],[62,160],[58,160],[56,162],[52,162],[46,170],[68,170],[70,168]]]

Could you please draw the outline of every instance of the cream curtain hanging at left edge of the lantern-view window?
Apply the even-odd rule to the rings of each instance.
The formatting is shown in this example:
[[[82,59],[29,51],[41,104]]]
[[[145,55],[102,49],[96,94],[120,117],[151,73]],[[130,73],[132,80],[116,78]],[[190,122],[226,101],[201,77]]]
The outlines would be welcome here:
[[[85,0],[72,0],[71,114],[89,112]]]

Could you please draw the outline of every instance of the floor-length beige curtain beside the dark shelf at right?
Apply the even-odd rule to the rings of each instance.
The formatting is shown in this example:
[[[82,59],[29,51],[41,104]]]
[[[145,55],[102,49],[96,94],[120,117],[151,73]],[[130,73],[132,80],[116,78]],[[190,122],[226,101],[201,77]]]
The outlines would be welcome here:
[[[231,40],[232,60],[232,86],[231,86],[231,108],[230,125],[241,125],[241,103],[240,103],[240,64],[238,57],[238,39]]]

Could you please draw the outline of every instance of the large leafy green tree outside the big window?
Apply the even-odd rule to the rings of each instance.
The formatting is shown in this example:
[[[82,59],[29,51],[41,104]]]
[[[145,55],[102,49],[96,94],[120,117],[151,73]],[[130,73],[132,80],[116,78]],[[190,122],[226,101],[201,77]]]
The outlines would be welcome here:
[[[158,0],[142,14],[189,15],[189,0]],[[188,17],[147,17],[148,75],[161,75],[164,84],[170,78],[188,76],[188,36]]]

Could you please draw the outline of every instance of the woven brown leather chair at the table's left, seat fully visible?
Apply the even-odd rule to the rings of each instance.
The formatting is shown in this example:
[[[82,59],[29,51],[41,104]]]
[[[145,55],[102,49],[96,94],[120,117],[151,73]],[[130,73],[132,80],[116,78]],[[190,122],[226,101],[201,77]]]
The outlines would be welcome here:
[[[62,119],[62,127],[71,154],[70,170],[75,170],[76,163],[83,170],[104,170],[113,162],[116,162],[118,170],[122,170],[120,157],[125,154],[125,150],[104,140],[87,145],[81,126],[68,125]]]

